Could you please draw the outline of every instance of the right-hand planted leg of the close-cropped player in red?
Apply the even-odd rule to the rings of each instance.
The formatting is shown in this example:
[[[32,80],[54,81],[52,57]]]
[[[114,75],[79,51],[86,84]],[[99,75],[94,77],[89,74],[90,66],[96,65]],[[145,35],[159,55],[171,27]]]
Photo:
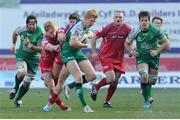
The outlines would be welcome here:
[[[115,72],[116,80],[110,83],[107,95],[105,97],[105,102],[103,104],[104,108],[112,108],[109,101],[110,101],[110,99],[112,98],[112,96],[114,95],[114,93],[115,93],[115,91],[117,89],[117,85],[118,85],[118,81],[119,81],[120,76],[121,76],[120,72],[118,72],[118,71]]]

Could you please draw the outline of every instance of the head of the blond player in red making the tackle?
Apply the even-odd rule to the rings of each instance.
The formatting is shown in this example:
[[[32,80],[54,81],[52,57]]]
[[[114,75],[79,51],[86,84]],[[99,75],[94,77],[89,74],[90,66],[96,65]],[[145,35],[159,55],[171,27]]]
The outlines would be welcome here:
[[[56,36],[58,26],[54,21],[47,21],[44,23],[44,30],[46,32],[46,35],[48,35],[51,38],[54,38]]]

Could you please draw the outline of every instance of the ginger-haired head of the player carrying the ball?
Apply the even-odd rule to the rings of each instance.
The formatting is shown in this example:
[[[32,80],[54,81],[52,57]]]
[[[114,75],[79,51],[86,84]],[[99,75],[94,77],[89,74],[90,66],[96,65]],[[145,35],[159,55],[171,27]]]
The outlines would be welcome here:
[[[96,22],[98,18],[97,12],[94,9],[88,10],[84,15],[84,24],[86,27],[90,28]]]

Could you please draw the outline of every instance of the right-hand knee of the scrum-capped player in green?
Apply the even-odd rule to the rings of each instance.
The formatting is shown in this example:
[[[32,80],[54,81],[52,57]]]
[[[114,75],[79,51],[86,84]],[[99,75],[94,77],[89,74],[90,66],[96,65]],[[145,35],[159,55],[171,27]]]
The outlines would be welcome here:
[[[34,80],[34,75],[26,74],[23,80],[23,86],[28,89],[31,85],[32,80]]]

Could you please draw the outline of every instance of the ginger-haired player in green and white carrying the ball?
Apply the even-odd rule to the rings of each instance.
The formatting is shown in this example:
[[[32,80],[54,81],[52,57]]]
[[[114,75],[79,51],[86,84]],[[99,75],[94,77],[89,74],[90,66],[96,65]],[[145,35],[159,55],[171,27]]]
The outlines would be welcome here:
[[[87,105],[84,99],[82,84],[96,79],[97,74],[81,49],[88,47],[87,40],[92,37],[89,35],[89,28],[94,25],[97,17],[97,12],[94,9],[88,10],[83,20],[79,20],[73,24],[66,32],[66,40],[62,45],[61,51],[61,59],[69,73],[75,79],[75,82],[71,83],[71,87],[75,87],[84,112],[93,112],[93,110]],[[81,71],[84,73],[83,75]],[[55,102],[57,94],[54,93],[51,95],[49,101],[52,104]]]

